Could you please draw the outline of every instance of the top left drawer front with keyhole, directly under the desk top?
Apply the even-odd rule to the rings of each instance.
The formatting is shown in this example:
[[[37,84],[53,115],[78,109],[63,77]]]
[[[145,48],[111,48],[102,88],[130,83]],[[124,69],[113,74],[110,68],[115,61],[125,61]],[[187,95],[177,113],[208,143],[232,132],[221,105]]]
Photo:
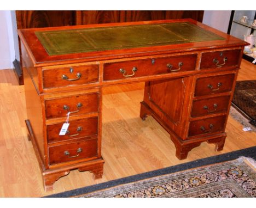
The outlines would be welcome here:
[[[98,82],[98,65],[43,70],[43,88]]]

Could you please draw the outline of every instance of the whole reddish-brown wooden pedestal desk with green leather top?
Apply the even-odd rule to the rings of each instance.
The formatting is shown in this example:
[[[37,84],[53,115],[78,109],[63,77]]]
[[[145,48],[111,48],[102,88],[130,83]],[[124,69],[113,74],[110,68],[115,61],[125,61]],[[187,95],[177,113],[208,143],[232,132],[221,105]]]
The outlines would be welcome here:
[[[102,87],[107,85],[146,82],[140,117],[152,115],[170,133],[179,159],[202,142],[223,149],[246,42],[191,19],[18,33],[28,136],[45,190],[72,169],[102,177]],[[68,131],[60,136],[68,112]]]

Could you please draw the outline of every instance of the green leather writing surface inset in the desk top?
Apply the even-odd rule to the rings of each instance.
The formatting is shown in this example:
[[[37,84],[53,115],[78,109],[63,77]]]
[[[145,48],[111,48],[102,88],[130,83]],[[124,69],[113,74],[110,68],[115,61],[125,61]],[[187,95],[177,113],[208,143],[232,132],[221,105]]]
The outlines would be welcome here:
[[[36,31],[49,56],[224,40],[190,22]]]

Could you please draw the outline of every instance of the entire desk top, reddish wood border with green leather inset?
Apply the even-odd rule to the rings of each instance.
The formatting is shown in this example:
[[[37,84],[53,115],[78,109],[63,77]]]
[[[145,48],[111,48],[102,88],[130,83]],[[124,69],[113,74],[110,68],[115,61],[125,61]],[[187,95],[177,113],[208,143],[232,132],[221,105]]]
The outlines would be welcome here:
[[[34,66],[247,45],[192,19],[30,28],[18,34]]]

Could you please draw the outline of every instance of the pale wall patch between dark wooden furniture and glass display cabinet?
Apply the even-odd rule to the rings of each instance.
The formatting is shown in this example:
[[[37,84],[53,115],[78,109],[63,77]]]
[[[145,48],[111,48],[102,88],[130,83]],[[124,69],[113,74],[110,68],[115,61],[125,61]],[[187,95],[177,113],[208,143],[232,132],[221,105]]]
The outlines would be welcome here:
[[[230,15],[231,11],[205,11],[202,23],[226,33],[228,32]]]

